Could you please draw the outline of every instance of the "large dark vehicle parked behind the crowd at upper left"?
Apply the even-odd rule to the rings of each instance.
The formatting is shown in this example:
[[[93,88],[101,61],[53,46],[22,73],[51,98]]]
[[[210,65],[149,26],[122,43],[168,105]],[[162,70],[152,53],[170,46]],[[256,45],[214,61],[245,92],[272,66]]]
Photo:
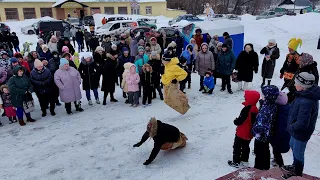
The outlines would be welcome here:
[[[36,29],[37,35],[39,34],[48,34],[50,31],[60,31],[62,34],[66,28],[70,29],[71,25],[66,21],[61,20],[48,20],[48,21],[39,21]]]

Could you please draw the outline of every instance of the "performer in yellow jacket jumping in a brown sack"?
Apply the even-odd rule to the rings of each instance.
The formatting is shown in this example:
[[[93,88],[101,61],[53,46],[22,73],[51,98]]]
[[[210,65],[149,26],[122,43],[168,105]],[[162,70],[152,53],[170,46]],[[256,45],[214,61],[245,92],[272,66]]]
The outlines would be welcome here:
[[[179,67],[179,59],[171,47],[164,54],[162,63],[165,67],[164,74],[161,76],[164,85],[164,102],[180,114],[185,114],[190,106],[187,96],[179,90],[178,81],[186,79],[188,73]]]

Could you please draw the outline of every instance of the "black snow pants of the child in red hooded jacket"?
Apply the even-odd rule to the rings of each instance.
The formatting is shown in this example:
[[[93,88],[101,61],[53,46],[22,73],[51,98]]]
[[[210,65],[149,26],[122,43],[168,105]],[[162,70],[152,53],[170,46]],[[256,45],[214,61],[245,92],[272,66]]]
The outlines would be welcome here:
[[[242,138],[239,138],[237,135],[234,138],[234,144],[233,144],[233,162],[234,163],[240,163],[242,162],[248,162],[249,160],[249,154],[250,154],[250,142],[251,140],[245,140]]]

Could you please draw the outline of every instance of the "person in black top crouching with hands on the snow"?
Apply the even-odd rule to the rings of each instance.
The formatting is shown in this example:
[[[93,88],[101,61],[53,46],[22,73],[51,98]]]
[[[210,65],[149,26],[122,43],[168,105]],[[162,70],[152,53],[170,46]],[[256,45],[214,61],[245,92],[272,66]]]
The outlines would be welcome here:
[[[141,141],[133,147],[140,147],[149,138],[153,138],[154,147],[149,159],[143,165],[149,165],[157,157],[160,150],[185,147],[188,140],[178,128],[156,120],[154,117],[149,121],[147,131],[143,134]]]

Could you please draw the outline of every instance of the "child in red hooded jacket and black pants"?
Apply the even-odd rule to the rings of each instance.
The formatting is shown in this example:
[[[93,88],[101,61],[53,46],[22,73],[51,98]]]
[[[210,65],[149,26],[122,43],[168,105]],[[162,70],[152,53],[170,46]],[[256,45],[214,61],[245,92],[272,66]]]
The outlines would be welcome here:
[[[233,144],[233,160],[228,161],[232,167],[238,168],[240,163],[247,163],[250,154],[250,142],[253,138],[251,134],[252,124],[259,112],[257,103],[260,99],[260,94],[257,91],[247,90],[244,92],[245,106],[240,113],[240,116],[234,120],[237,126],[236,137]]]

